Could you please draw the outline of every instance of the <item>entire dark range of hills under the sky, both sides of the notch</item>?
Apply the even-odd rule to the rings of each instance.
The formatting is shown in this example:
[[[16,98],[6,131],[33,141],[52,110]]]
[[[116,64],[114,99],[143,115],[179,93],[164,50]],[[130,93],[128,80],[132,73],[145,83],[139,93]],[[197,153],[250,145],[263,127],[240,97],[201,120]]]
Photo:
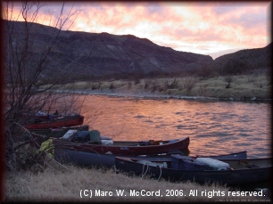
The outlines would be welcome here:
[[[5,35],[6,26],[12,29],[12,37]],[[4,49],[12,39],[17,42],[16,50],[26,39],[25,22],[4,20]],[[40,75],[48,78],[54,74],[65,74],[77,67],[72,79],[88,79],[100,76],[139,74],[197,74],[208,67],[219,74],[250,73],[255,69],[269,69],[271,48],[241,50],[212,60],[211,56],[198,53],[175,51],[170,47],[154,44],[146,38],[132,35],[112,35],[108,33],[87,33],[60,31],[37,23],[28,23],[29,70],[41,59],[41,51],[54,44],[48,57],[47,68]],[[52,42],[58,32],[59,37]],[[11,42],[10,42],[11,43]],[[11,44],[10,44],[11,45]],[[7,54],[8,55],[8,54]]]

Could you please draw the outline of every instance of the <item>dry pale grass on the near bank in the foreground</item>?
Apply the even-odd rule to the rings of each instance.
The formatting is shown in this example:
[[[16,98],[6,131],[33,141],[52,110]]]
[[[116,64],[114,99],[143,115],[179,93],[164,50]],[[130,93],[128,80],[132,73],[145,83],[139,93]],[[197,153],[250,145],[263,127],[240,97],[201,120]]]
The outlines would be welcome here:
[[[63,168],[65,167],[65,168]],[[194,202],[217,200],[257,200],[251,197],[232,197],[227,195],[229,189],[219,185],[199,185],[194,183],[170,183],[164,180],[153,180],[138,176],[116,174],[114,169],[80,168],[63,166],[46,168],[45,172],[33,174],[24,172],[20,174],[6,174],[4,186],[4,201],[64,201],[64,202],[128,202],[128,201],[152,201],[152,202]],[[58,170],[56,170],[58,169]],[[80,195],[80,191],[87,190],[88,196]],[[93,196],[90,198],[90,190]],[[95,196],[95,190],[113,192],[112,196]],[[116,190],[124,190],[127,196],[117,196]],[[129,196],[131,190],[145,192],[160,191],[158,196]],[[168,190],[183,190],[181,196],[166,196]],[[189,196],[189,193],[197,190],[198,196]],[[214,191],[214,194],[213,194]],[[181,193],[182,191],[180,191]],[[206,195],[202,192],[207,192]],[[221,196],[217,196],[217,193]]]

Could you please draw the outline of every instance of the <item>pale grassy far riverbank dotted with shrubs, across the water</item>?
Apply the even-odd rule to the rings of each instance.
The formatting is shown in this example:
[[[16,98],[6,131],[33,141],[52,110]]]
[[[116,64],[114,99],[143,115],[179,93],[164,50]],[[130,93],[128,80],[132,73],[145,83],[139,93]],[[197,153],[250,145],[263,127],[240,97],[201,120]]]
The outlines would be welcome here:
[[[271,88],[270,76],[265,73],[215,78],[138,78],[135,80],[112,78],[107,81],[80,81],[65,86],[55,86],[55,89],[60,92],[79,94],[251,102],[271,101]]]

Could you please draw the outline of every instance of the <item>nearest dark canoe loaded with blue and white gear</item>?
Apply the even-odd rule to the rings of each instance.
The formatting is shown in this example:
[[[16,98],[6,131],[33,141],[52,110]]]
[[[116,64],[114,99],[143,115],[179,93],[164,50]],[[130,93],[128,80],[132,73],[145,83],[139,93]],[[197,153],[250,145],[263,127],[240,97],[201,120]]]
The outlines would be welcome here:
[[[191,161],[174,156],[171,161],[161,159],[160,162],[116,157],[115,167],[120,172],[151,175],[157,179],[165,178],[174,182],[191,181],[197,184],[218,183],[228,186],[269,181],[272,171],[271,158],[205,159]]]

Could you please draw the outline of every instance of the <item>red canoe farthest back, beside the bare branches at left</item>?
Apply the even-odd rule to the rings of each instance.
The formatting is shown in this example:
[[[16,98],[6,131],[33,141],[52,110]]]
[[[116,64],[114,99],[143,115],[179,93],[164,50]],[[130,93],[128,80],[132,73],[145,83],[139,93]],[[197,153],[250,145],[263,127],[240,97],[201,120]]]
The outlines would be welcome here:
[[[28,119],[22,124],[25,128],[32,129],[48,129],[59,128],[62,126],[81,126],[83,124],[84,117],[78,114],[69,116],[59,116],[57,118],[38,118]]]

